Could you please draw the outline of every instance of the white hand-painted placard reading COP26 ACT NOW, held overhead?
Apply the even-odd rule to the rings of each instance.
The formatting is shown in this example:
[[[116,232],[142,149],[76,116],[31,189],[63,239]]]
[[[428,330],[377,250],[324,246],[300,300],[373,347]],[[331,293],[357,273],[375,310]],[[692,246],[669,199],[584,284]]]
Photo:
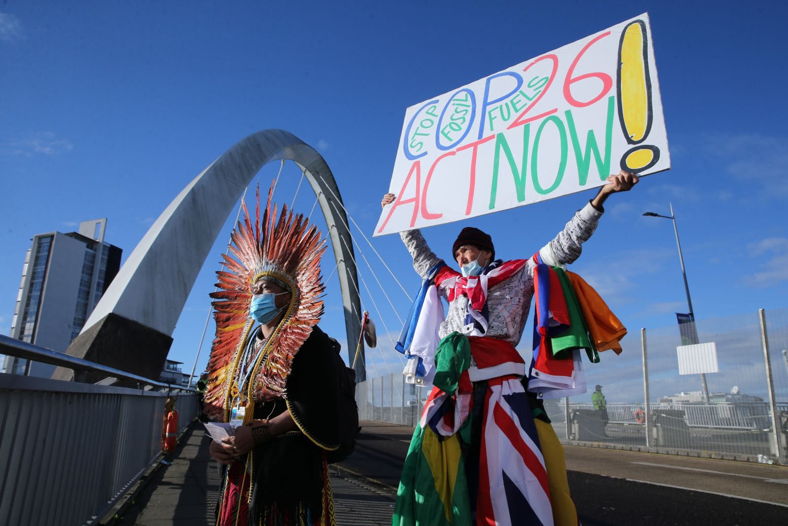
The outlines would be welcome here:
[[[438,225],[671,166],[644,13],[405,112],[374,235]]]

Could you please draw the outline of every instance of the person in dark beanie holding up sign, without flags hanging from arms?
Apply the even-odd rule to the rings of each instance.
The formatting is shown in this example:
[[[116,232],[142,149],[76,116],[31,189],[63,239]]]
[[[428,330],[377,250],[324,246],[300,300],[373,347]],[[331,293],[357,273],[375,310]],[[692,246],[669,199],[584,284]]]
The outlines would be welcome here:
[[[529,259],[496,259],[492,237],[467,227],[452,244],[457,272],[435,255],[418,229],[400,233],[414,269],[432,280],[449,308],[438,327],[442,339],[433,379],[438,389],[414,432],[394,526],[472,524],[471,517],[477,524],[578,524],[563,448],[540,394],[526,392],[528,365],[515,346],[527,323],[537,261],[558,267],[578,259],[604,201],[633,188],[638,177],[622,170],[607,181]],[[386,194],[381,206],[395,198]],[[446,397],[451,405],[433,412]]]

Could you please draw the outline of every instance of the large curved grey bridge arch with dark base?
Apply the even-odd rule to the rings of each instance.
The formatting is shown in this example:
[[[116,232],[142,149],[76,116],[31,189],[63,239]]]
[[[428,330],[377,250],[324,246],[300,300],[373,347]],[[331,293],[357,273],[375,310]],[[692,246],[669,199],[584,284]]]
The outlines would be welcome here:
[[[157,379],[180,312],[222,226],[262,166],[278,159],[296,162],[318,196],[336,257],[352,363],[362,312],[353,244],[339,188],[322,156],[281,129],[247,136],[169,203],[128,256],[66,353]],[[362,359],[356,364],[359,382],[366,379],[363,353],[362,347]],[[58,367],[52,378],[68,380],[72,373]],[[74,379],[98,380],[79,374]]]

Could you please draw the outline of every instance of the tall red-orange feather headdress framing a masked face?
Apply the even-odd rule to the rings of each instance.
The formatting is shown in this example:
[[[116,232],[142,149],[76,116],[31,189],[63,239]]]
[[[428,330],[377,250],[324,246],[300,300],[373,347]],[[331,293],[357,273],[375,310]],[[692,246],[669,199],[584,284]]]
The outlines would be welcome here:
[[[216,338],[208,362],[205,401],[206,413],[212,418],[229,420],[232,398],[244,388],[252,405],[255,399],[286,397],[293,356],[323,314],[320,258],[325,252],[325,241],[315,226],[310,226],[303,215],[293,215],[287,206],[282,207],[277,220],[276,205],[273,212],[271,209],[272,196],[273,185],[262,222],[259,188],[254,222],[246,203],[241,201],[243,219],[232,231],[231,256],[224,255],[224,270],[217,271],[218,290],[210,294],[214,298]],[[287,285],[291,300],[277,329],[251,364],[248,385],[238,385],[238,368],[243,365],[240,362],[255,325],[249,314],[252,289],[264,278]],[[248,405],[247,418],[251,418]]]

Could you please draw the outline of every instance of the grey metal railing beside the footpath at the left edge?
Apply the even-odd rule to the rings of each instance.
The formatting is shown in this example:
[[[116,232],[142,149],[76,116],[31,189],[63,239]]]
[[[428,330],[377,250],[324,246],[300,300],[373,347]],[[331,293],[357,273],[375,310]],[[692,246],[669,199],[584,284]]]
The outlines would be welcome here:
[[[0,524],[95,524],[162,451],[167,397],[180,430],[193,390],[0,337],[0,353],[138,382],[140,389],[0,374]]]

